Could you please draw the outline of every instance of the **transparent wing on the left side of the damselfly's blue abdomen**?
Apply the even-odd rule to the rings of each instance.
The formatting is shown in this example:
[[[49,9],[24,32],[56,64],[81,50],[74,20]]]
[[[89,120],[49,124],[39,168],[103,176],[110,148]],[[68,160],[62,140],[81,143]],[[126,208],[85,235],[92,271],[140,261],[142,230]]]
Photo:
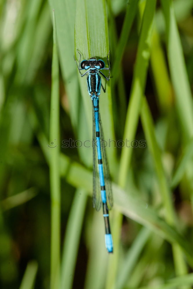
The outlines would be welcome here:
[[[97,142],[96,142],[96,127],[94,119],[94,109],[92,110],[92,139],[93,139],[93,195],[92,195],[92,205],[99,211],[101,208],[101,186],[99,179],[99,170],[98,170],[98,157],[97,157]]]

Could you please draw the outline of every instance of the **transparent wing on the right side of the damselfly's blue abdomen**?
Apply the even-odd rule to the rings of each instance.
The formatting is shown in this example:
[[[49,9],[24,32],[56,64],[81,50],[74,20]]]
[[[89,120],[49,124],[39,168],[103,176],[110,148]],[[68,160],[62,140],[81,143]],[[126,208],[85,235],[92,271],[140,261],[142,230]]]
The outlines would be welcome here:
[[[102,148],[102,161],[103,161],[103,172],[104,172],[104,180],[105,180],[105,189],[106,189],[106,197],[107,197],[107,206],[110,210],[113,206],[113,195],[112,195],[112,185],[109,173],[109,166],[107,160],[107,153],[104,146],[104,136],[103,136],[103,129],[101,124],[101,115],[99,111],[99,127],[100,127],[100,136],[101,136],[101,148]]]

